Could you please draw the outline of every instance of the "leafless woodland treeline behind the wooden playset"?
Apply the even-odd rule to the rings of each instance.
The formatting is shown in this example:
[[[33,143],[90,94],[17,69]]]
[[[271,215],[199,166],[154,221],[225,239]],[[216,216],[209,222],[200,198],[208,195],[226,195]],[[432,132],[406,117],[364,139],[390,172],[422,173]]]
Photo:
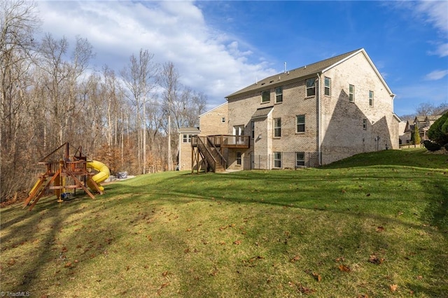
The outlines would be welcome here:
[[[179,83],[172,62],[141,49],[121,71],[90,67],[86,38],[44,34],[34,3],[0,3],[0,199],[28,190],[37,162],[69,142],[111,171],[174,169],[177,128],[198,126],[207,97]]]

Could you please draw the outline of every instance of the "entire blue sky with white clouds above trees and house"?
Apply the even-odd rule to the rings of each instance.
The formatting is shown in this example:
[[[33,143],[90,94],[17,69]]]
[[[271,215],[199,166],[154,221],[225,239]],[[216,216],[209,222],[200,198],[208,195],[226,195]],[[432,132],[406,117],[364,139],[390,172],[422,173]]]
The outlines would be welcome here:
[[[209,108],[255,80],[365,48],[394,111],[448,103],[448,1],[38,1],[43,33],[87,38],[120,71],[141,48]]]

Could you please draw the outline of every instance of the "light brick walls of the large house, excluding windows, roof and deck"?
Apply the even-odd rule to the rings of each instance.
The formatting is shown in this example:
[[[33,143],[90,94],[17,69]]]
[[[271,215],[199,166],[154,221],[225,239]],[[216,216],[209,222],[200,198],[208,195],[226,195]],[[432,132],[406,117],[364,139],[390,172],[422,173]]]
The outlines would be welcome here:
[[[253,122],[250,148],[223,150],[228,169],[294,167],[295,152],[304,153],[304,166],[318,166],[361,152],[399,148],[399,121],[393,114],[393,97],[363,50],[319,76],[314,73],[288,80],[288,75],[289,72],[281,73],[278,80],[257,84],[255,91],[230,96],[228,103],[200,115],[201,136],[234,134],[234,127],[241,125],[244,135],[251,136]],[[330,95],[325,95],[325,77],[331,80]],[[307,78],[316,78],[316,94],[309,97]],[[354,86],[353,102],[349,101],[349,85]],[[276,102],[275,88],[279,86],[283,89],[283,100]],[[262,102],[263,91],[269,91],[268,102]],[[372,104],[370,92],[373,92]],[[270,111],[259,115],[260,108]],[[297,132],[297,115],[304,115],[304,132]],[[276,118],[281,120],[278,137],[274,136]],[[237,164],[237,152],[241,153],[241,165]],[[274,163],[274,152],[281,152],[281,165]],[[283,157],[288,162],[283,163]]]

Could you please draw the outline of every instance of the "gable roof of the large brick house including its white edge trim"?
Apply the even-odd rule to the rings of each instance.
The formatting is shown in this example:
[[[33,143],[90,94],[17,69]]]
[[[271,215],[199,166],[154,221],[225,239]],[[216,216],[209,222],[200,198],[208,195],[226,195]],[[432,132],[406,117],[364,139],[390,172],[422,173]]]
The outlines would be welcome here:
[[[374,66],[372,60],[367,55],[367,52],[363,48],[360,48],[358,50],[353,50],[351,52],[346,52],[345,54],[338,55],[335,57],[331,57],[313,64],[304,65],[299,67],[298,69],[293,69],[290,71],[286,71],[283,73],[277,73],[274,76],[269,76],[267,78],[264,78],[262,80],[259,80],[256,83],[253,83],[252,85],[249,85],[247,87],[244,87],[243,89],[234,92],[230,95],[228,95],[226,98],[229,97],[235,97],[236,95],[253,92],[255,90],[263,90],[271,87],[276,87],[279,85],[283,85],[285,82],[288,82],[290,80],[295,80],[298,78],[306,78],[307,76],[312,76],[316,73],[323,73],[324,71],[328,71],[329,69],[332,69],[332,67],[337,66],[338,64],[346,61],[347,59],[350,59],[354,55],[357,55],[359,52],[362,52],[365,58],[367,59],[367,62],[369,62],[370,66],[372,66],[372,69],[377,73],[377,76],[381,80],[381,82],[386,87],[386,90],[388,90],[389,94],[394,95],[384,79],[381,77],[381,74],[377,70],[377,68]]]

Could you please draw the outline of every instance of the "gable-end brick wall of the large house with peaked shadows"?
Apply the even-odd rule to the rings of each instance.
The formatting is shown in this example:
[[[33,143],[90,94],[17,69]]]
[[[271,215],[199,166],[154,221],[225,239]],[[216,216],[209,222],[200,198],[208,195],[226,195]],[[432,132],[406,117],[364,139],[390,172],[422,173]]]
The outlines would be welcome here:
[[[324,94],[323,80],[331,79],[331,94]],[[349,101],[349,84],[354,101]],[[399,148],[398,120],[393,115],[393,99],[370,66],[363,52],[322,73],[322,163],[360,152]],[[373,91],[373,105],[369,92]],[[366,127],[363,127],[363,120]]]

